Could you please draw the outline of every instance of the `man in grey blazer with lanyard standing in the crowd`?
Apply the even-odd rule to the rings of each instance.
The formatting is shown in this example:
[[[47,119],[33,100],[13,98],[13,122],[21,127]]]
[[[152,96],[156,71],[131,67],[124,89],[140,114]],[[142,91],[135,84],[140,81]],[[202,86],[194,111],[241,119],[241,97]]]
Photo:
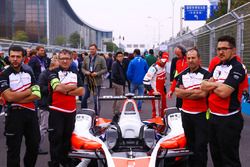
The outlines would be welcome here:
[[[82,98],[82,108],[88,108],[87,100],[90,92],[93,93],[96,115],[99,115],[100,105],[97,107],[97,97],[100,96],[102,75],[107,72],[107,65],[104,57],[97,55],[96,44],[89,46],[90,54],[84,58],[82,72],[85,75],[84,88],[85,94]]]

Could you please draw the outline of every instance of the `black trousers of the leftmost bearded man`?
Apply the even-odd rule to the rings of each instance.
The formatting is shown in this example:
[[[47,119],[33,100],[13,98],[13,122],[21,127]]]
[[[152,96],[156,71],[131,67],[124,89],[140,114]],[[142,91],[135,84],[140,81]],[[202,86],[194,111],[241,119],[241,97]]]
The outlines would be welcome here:
[[[20,149],[25,137],[26,152],[23,158],[25,167],[34,167],[40,142],[37,112],[29,109],[7,111],[5,120],[7,167],[20,166]]]

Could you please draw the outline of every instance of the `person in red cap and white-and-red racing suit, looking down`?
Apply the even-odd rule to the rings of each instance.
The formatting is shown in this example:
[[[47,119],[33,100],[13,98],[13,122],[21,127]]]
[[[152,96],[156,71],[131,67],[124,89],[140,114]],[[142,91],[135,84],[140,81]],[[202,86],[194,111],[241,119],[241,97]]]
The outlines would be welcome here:
[[[143,84],[144,87],[149,92],[149,95],[161,95],[161,107],[160,107],[160,113],[157,113],[157,108],[155,101],[152,100],[152,118],[155,118],[156,116],[163,117],[164,116],[164,110],[167,108],[166,104],[166,63],[168,62],[168,53],[163,52],[161,57],[158,58],[156,63],[154,63],[146,73]]]

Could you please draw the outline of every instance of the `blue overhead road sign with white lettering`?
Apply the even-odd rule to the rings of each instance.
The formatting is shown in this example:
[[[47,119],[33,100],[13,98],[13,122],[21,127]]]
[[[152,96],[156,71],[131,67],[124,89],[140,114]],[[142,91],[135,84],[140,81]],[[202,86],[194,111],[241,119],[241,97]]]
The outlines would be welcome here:
[[[207,20],[207,5],[185,5],[184,20],[186,21]]]

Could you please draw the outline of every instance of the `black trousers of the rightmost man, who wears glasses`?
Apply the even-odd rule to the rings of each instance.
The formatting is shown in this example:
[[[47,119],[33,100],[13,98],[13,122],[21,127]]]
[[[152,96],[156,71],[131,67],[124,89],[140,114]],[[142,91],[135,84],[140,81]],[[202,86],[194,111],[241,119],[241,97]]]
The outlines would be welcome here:
[[[240,112],[231,116],[211,114],[209,145],[214,167],[241,167],[239,144],[243,123]]]

